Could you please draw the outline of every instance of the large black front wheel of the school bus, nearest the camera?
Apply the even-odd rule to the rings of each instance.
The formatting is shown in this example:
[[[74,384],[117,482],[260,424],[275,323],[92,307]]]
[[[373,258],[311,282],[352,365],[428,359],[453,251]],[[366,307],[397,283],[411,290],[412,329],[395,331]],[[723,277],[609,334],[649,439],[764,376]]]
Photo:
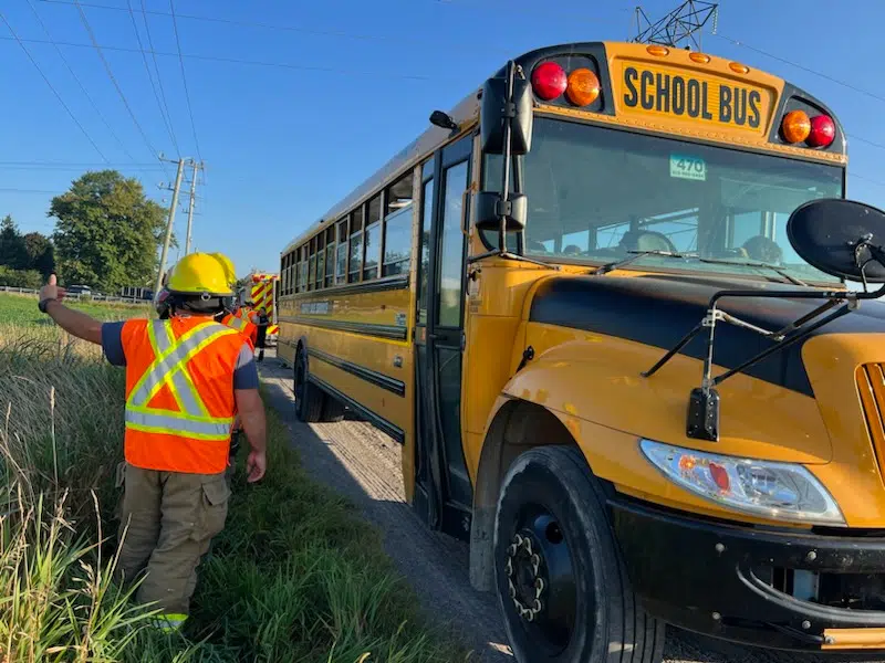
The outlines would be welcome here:
[[[602,486],[570,446],[517,457],[494,526],[498,598],[520,663],[659,663],[664,623],[626,576]]]

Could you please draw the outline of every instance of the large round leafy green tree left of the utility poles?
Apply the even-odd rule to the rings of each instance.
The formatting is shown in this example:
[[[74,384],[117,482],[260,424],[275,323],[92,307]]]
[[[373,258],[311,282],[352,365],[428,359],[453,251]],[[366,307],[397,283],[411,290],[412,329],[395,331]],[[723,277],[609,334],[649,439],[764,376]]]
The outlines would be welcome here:
[[[66,283],[116,292],[152,282],[166,210],[138,180],[116,170],[86,172],[52,199],[48,215],[58,219],[55,259]]]

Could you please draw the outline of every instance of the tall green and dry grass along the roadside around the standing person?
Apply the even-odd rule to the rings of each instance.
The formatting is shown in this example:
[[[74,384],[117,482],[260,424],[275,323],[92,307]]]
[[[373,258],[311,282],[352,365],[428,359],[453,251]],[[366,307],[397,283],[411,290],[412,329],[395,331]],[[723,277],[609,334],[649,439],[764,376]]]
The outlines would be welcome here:
[[[123,371],[52,328],[0,329],[0,662],[464,661],[431,632],[378,534],[313,483],[269,412],[269,471],[241,463],[184,634],[113,582]]]

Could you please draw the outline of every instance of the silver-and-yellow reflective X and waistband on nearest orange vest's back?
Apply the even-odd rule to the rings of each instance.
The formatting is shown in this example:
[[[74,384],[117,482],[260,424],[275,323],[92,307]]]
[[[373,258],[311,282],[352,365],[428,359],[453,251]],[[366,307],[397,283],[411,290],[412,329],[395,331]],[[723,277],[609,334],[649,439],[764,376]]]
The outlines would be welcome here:
[[[227,440],[233,418],[209,414],[185,366],[210,343],[228,334],[237,332],[216,323],[206,323],[188,329],[176,340],[170,325],[162,320],[149,322],[147,337],[154,350],[154,361],[126,399],[126,428],[197,440]],[[164,385],[180,411],[148,407],[147,403]]]

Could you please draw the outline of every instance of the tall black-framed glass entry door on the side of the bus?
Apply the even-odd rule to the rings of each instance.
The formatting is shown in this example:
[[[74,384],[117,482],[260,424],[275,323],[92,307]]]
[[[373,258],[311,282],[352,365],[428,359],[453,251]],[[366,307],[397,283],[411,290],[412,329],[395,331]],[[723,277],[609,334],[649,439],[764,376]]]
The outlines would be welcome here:
[[[438,151],[424,169],[415,334],[415,507],[435,529],[467,538],[472,487],[461,444],[464,274],[461,231],[472,138]]]

